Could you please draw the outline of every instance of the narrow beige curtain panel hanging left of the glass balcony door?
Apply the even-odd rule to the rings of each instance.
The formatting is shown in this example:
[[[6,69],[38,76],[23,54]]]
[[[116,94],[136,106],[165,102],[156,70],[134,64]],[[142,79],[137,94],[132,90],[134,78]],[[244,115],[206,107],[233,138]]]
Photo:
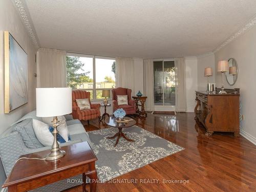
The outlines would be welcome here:
[[[147,96],[146,111],[154,111],[154,64],[152,59],[143,60],[144,95]]]

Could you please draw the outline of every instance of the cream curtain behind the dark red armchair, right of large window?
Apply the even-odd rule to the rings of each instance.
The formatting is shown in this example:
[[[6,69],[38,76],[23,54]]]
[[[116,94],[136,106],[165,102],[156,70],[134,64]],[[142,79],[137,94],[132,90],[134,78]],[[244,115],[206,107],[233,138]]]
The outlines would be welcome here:
[[[134,95],[134,59],[116,57],[116,87],[129,88]]]

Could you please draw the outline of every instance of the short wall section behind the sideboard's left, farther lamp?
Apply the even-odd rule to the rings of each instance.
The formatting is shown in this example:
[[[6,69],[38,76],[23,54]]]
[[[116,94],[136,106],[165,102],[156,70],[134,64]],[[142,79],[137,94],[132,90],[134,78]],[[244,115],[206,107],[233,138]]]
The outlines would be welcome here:
[[[209,77],[210,83],[215,83],[215,55],[214,53],[209,53],[206,55],[198,56],[197,57],[198,63],[198,74],[197,74],[197,81],[198,81],[198,90],[206,91],[207,89],[207,77],[204,76],[204,68],[211,67],[214,73],[213,76]]]

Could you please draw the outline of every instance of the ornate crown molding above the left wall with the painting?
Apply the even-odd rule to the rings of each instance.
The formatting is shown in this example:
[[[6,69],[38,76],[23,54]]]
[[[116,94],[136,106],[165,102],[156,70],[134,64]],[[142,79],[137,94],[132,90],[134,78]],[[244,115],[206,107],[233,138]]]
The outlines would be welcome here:
[[[17,12],[19,13],[20,17],[22,18],[24,25],[29,33],[29,36],[33,42],[33,45],[38,49],[38,41],[37,41],[37,36],[34,33],[33,25],[29,21],[29,14],[27,14],[25,3],[23,0],[12,0],[12,3],[16,7]]]

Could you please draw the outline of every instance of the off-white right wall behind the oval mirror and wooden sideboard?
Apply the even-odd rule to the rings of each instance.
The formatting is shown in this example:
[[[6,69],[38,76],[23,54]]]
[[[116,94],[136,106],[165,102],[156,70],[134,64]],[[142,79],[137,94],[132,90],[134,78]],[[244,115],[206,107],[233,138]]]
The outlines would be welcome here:
[[[241,114],[245,115],[241,122],[241,135],[256,144],[256,118],[255,118],[255,94],[256,94],[256,26],[246,31],[237,39],[215,53],[215,63],[222,59],[234,58],[238,63],[238,80],[234,86],[229,86],[225,80],[225,88],[240,88]],[[218,88],[221,87],[221,74],[216,72]]]

